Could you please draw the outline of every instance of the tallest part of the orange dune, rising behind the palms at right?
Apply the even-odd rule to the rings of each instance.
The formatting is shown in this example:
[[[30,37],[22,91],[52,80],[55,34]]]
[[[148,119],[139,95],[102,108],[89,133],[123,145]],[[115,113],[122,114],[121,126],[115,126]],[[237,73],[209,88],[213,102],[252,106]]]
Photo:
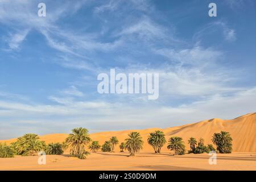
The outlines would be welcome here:
[[[187,140],[190,137],[194,137],[197,140],[202,137],[205,140],[205,144],[212,144],[212,135],[220,131],[228,131],[232,135],[234,152],[256,151],[256,113],[246,114],[231,120],[209,119],[175,131],[166,132],[166,135],[182,137],[186,147],[189,148]]]

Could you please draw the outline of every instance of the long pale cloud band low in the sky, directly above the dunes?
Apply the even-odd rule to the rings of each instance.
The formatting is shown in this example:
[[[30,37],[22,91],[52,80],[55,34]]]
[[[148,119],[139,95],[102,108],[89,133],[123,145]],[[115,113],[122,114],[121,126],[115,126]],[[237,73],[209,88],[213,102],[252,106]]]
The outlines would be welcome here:
[[[64,102],[61,101],[61,103]],[[42,123],[49,123],[49,125],[41,126],[44,131],[47,131],[47,129],[49,131],[49,127],[58,123],[60,128],[67,127],[67,125],[89,125],[93,130],[98,130],[99,126],[101,126],[101,130],[110,126],[113,130],[125,129],[127,122],[129,126],[133,124],[138,126],[137,123],[139,123],[141,127],[155,127],[154,123],[157,121],[158,127],[171,127],[180,125],[180,121],[184,121],[184,124],[214,117],[232,119],[238,115],[254,112],[254,108],[256,108],[256,88],[240,91],[232,96],[217,94],[201,101],[177,107],[151,105],[150,102],[130,105],[125,102],[107,104],[102,101],[77,102],[69,100],[65,103],[69,104],[48,106],[0,101],[0,108],[9,110],[8,113],[0,112],[0,114],[1,117],[8,117],[13,122],[42,121],[44,118]],[[30,114],[30,118],[34,119],[27,119],[24,111]],[[51,116],[51,118],[47,118],[47,116]],[[117,123],[122,123],[122,127]],[[3,125],[3,123],[0,123],[0,125]],[[31,132],[34,131],[34,128],[27,126],[26,129],[23,129],[23,132],[25,130]],[[13,131],[16,131],[15,128]],[[0,137],[5,136],[1,133]]]

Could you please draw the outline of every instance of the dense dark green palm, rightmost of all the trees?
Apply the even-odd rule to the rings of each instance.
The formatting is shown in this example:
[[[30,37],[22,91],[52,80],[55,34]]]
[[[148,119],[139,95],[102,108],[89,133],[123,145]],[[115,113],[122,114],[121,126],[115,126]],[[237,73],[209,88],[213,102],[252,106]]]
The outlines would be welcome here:
[[[232,152],[232,138],[229,132],[221,131],[221,133],[214,133],[212,142],[216,144],[217,150],[222,154]]]

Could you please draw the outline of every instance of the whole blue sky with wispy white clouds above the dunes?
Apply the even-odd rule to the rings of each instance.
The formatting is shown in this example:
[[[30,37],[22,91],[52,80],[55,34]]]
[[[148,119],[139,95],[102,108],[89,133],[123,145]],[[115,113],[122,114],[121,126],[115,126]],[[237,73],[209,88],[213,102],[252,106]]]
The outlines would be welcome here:
[[[46,3],[46,17],[38,3]],[[217,17],[208,5],[217,5]],[[0,139],[171,127],[256,108],[256,2],[0,1]],[[159,73],[159,98],[97,75]]]

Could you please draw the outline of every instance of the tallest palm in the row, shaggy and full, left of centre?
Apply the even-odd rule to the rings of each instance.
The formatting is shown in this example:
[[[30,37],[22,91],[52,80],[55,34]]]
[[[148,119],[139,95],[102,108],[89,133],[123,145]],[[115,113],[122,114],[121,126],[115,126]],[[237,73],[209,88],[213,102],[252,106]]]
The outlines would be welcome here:
[[[82,127],[72,130],[72,134],[68,135],[66,142],[71,146],[70,154],[79,159],[86,159],[89,152],[85,151],[85,146],[91,141],[88,130]]]

